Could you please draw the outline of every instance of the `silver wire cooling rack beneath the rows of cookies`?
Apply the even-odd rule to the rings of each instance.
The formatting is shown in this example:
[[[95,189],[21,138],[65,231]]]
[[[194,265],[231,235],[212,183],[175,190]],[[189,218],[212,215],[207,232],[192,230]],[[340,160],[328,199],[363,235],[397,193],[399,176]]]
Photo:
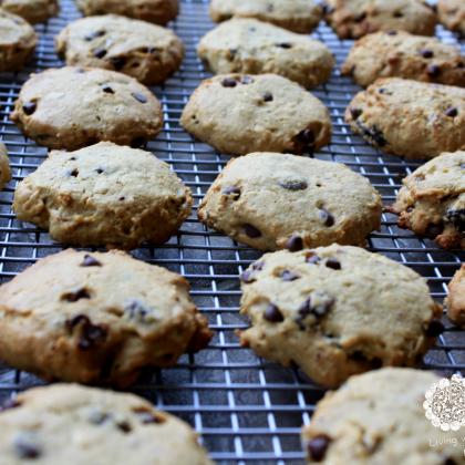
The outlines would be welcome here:
[[[78,17],[74,3],[62,1],[61,16],[46,25],[37,27],[40,42],[30,66],[19,74],[0,74],[0,140],[8,146],[13,170],[13,180],[0,194],[1,282],[10,280],[38,258],[61,250],[48,234],[19,223],[11,211],[16,184],[35,169],[45,158],[46,149],[24,138],[9,121],[9,114],[30,72],[63,65],[54,52],[53,37]],[[198,40],[213,28],[207,2],[183,1],[182,13],[173,28],[183,39],[187,53],[180,71],[164,86],[154,89],[163,103],[165,125],[147,148],[173,166],[193,189],[197,205],[228,161],[209,146],[195,142],[178,123],[188,96],[199,81],[208,76],[195,52]],[[437,34],[446,42],[458,43],[442,28]],[[331,48],[338,64],[351,46],[350,41],[340,41],[324,23],[313,37]],[[465,43],[461,46],[464,50]],[[394,200],[401,179],[417,164],[382,155],[351,134],[343,113],[358,90],[335,70],[331,81],[314,91],[330,108],[334,128],[331,145],[316,156],[345,163],[363,174],[389,205]],[[133,390],[189,422],[219,463],[301,463],[300,427],[309,422],[323,391],[298,370],[260,360],[250,350],[239,347],[234,331],[246,328],[247,322],[238,314],[238,275],[260,254],[208,231],[196,218],[195,209],[169,242],[157,248],[141,248],[133,255],[180,272],[190,281],[192,294],[208,317],[215,338],[208,349],[184,355],[175,368],[147,374]],[[371,235],[370,248],[427,278],[432,294],[438,301],[464,260],[462,251],[441,250],[434,242],[399,229],[395,217],[390,214],[383,215],[381,231]],[[465,371],[464,333],[451,323],[446,326],[446,332],[426,355],[424,368],[447,374]],[[0,399],[40,383],[35,376],[0,364]]]

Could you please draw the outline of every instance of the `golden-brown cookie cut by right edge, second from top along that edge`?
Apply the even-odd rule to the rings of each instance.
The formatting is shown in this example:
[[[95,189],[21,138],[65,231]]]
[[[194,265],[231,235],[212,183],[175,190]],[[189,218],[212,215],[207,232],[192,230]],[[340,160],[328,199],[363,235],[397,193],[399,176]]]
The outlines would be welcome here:
[[[355,42],[342,65],[362,87],[378,78],[465,86],[465,59],[453,45],[403,31],[375,32]]]

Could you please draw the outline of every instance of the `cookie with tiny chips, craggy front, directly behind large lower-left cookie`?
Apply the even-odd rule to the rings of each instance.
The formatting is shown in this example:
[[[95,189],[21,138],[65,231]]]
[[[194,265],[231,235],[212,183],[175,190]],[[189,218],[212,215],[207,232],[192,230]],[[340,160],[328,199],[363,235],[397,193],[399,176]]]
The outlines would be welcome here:
[[[110,142],[53,151],[17,187],[18,219],[59,242],[131,249],[163,244],[189,216],[190,189],[148,152]]]

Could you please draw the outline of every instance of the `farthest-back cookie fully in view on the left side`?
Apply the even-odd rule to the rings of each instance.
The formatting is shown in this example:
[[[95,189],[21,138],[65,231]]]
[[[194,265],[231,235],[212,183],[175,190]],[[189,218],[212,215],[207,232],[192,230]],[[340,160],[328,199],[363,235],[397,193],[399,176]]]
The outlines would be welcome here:
[[[170,30],[115,14],[79,19],[55,42],[69,65],[120,71],[146,85],[166,81],[184,56],[183,42]]]

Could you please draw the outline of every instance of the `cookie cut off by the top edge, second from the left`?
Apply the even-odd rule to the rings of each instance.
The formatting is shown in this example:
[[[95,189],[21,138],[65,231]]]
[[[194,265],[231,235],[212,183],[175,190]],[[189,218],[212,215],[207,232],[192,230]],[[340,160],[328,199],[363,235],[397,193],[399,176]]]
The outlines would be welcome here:
[[[179,12],[178,0],[76,0],[76,4],[85,17],[121,14],[162,25]]]

